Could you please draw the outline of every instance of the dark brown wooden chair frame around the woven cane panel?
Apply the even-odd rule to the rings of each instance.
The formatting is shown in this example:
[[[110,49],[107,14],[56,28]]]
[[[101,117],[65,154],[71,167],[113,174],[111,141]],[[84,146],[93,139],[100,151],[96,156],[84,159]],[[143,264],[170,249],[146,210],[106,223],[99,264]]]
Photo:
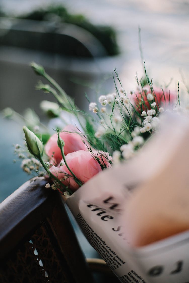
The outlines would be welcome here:
[[[93,282],[64,203],[46,180],[33,178],[0,204],[0,261],[44,220],[50,225],[75,282]]]

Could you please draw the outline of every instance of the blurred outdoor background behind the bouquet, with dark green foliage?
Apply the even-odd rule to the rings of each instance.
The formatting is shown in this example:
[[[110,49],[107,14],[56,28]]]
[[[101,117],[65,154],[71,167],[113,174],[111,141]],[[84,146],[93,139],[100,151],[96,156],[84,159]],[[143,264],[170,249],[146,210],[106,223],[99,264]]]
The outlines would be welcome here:
[[[159,86],[171,81],[172,89],[180,81],[182,91],[181,74],[189,83],[188,0],[1,0],[0,110],[32,108],[45,122],[39,103],[51,98],[35,90],[32,61],[84,110],[85,93],[94,100],[115,91],[114,67],[125,90],[135,89],[136,72],[143,76],[139,27],[149,77]],[[22,126],[0,114],[0,201],[31,177],[12,162]]]

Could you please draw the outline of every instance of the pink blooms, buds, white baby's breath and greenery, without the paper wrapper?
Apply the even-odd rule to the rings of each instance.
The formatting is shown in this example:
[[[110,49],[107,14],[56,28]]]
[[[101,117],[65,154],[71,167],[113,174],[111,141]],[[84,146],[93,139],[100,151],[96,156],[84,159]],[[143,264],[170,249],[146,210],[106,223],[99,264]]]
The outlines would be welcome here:
[[[93,113],[90,115],[77,108],[42,66],[32,63],[31,67],[54,86],[38,83],[37,89],[52,93],[58,102],[43,101],[42,108],[50,115],[59,117],[60,121],[69,113],[74,124],[64,128],[55,126],[56,132],[52,136],[48,132],[39,132],[37,125],[33,128],[31,125],[29,128],[25,126],[27,148],[38,161],[22,156],[22,167],[27,173],[33,173],[35,169],[38,175],[48,174],[54,182],[52,188],[67,196],[99,171],[133,157],[156,131],[159,114],[164,108],[176,104],[176,94],[167,89],[154,88],[147,74],[149,86],[136,76],[137,90],[131,90],[128,95],[114,70],[120,88],[115,82],[115,93],[100,95],[98,105],[97,102],[89,102],[89,110]],[[22,149],[17,149],[16,152],[21,154]],[[39,162],[45,173],[36,169]]]

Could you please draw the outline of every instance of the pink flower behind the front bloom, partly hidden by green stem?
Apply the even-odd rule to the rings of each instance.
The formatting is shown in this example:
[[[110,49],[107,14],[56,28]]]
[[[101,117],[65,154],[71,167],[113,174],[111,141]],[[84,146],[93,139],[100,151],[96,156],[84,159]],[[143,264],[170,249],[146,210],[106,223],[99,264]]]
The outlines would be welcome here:
[[[65,131],[69,131],[72,133]],[[60,132],[60,137],[63,139],[65,143],[64,145],[65,155],[78,150],[87,151],[87,147],[82,141],[83,137],[75,133],[77,131],[78,130],[75,126],[67,125],[66,127],[63,128],[63,132]],[[57,141],[58,141],[58,134],[54,134],[50,137],[50,139],[47,141],[45,145],[45,152],[51,160],[53,155],[53,161],[52,161],[53,164],[58,164],[62,160],[61,150],[60,147],[58,147]]]

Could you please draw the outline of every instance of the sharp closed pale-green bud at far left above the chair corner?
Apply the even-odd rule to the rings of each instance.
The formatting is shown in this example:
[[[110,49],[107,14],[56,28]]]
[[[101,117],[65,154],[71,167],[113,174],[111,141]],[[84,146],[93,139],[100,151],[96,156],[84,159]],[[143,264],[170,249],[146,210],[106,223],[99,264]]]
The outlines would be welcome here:
[[[25,133],[27,148],[29,149],[29,152],[36,158],[41,157],[43,155],[43,143],[26,126],[23,127],[23,130]]]

